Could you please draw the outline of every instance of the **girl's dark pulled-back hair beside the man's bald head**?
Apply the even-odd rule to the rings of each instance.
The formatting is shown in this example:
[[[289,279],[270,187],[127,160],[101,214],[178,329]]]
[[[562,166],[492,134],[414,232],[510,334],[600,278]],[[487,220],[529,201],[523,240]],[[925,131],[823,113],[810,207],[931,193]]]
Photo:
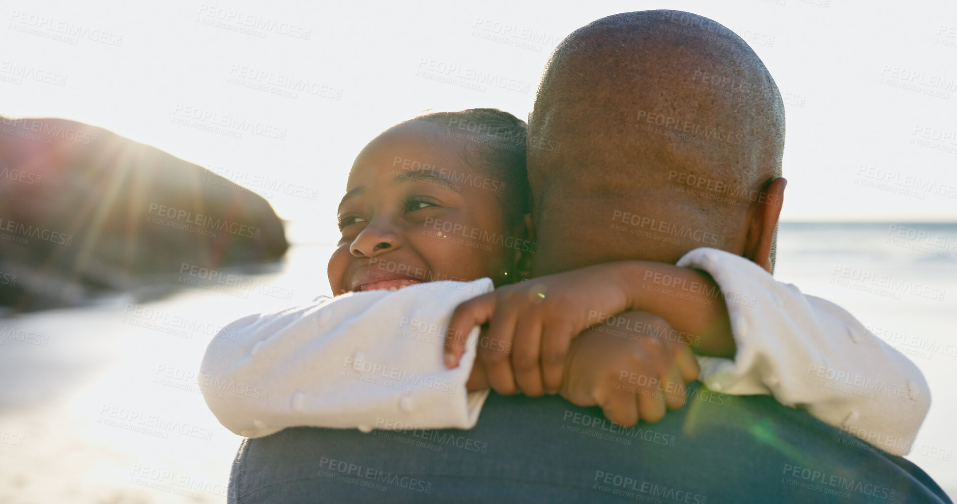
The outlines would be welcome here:
[[[525,170],[525,121],[497,108],[434,112],[412,121],[430,121],[444,129],[447,144],[461,145],[465,164],[485,173],[496,187],[506,218],[522,219],[531,211],[531,190]]]

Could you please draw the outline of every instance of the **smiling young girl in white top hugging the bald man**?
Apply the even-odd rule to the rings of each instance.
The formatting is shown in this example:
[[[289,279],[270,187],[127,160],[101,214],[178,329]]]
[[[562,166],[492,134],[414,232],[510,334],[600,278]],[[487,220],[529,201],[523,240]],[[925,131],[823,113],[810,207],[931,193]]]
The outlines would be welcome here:
[[[234,340],[211,341],[199,381],[219,421],[248,437],[294,426],[469,428],[478,420],[490,380],[502,393],[560,391],[577,405],[600,405],[610,420],[627,426],[639,419],[657,421],[665,407],[683,405],[683,384],[699,372],[692,346],[705,355],[753,357],[754,348],[769,340],[772,349],[758,353],[777,374],[738,376],[723,392],[771,393],[831,425],[859,426],[863,419],[867,430],[913,440],[929,405],[916,367],[892,349],[841,340],[852,325],[860,326],[846,312],[811,302],[816,298],[805,300],[727,252],[698,250],[688,256],[701,251],[710,264],[701,268],[716,278],[751,280],[746,296],[729,298],[733,303],[784,298],[750,302],[757,314],[753,320],[807,318],[810,312],[814,329],[794,325],[785,334],[732,339],[723,293],[725,283],[738,280],[721,280],[719,288],[711,276],[689,268],[622,261],[509,288],[507,293],[521,296],[501,297],[498,306],[493,303],[476,318],[490,320],[488,335],[479,339],[478,327],[466,320],[452,335],[464,342],[461,362],[456,353],[448,363],[457,367],[443,365],[456,306],[530,271],[534,243],[524,145],[524,122],[495,109],[422,116],[369,142],[352,166],[339,207],[343,237],[328,266],[336,296],[240,318],[223,329]],[[664,276],[669,285],[696,287],[680,296],[654,294]],[[556,296],[573,312],[556,315],[573,320],[562,330],[549,328],[548,320],[523,318],[542,299],[548,304]],[[736,330],[746,321],[736,319]],[[832,338],[820,343],[821,334]],[[789,340],[790,347],[781,340]],[[787,365],[795,344],[803,345],[802,357],[826,355],[823,362],[830,368],[852,375],[861,370],[862,351],[870,352],[868,365],[879,364],[887,382],[924,390],[923,397],[907,399],[907,421],[901,422],[885,414],[901,410],[900,395],[882,394],[862,404],[854,394],[811,383],[810,368]],[[566,353],[563,362],[544,359]],[[483,360],[477,362],[477,355]],[[538,356],[541,368],[535,365]],[[488,379],[485,361],[494,367]],[[701,380],[712,388],[726,382],[728,365],[736,363],[720,361],[702,360],[707,365]],[[239,392],[256,387],[266,393]],[[224,389],[235,393],[212,393]]]

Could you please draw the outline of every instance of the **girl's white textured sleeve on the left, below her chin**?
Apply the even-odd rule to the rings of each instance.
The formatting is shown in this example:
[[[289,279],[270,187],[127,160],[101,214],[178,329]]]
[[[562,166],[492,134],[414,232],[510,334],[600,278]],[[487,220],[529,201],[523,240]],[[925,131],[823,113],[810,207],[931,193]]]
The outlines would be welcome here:
[[[240,318],[211,340],[199,386],[219,422],[261,437],[285,427],[474,427],[488,391],[468,393],[468,365],[442,365],[456,305],[492,289],[431,282],[324,298]]]

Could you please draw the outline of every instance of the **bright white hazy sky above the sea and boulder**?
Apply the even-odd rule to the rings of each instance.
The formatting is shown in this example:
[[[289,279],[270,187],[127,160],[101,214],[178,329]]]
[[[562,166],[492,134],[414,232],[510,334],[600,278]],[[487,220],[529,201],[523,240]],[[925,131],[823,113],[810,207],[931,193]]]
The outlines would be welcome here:
[[[723,23],[770,69],[787,103],[783,219],[957,220],[952,1],[133,4],[0,8],[0,115],[84,121],[211,167],[319,241],[338,237],[348,167],[377,133],[428,109],[526,118],[568,33],[661,8]],[[450,68],[517,89],[420,75]],[[307,85],[278,94],[289,82]]]

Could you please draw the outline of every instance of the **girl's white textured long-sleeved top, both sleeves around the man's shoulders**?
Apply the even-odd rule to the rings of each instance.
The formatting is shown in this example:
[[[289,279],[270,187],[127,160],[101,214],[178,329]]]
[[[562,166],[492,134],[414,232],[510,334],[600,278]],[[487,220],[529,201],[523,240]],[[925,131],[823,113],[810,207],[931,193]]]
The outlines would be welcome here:
[[[714,278],[737,344],[733,361],[699,358],[708,388],[770,394],[879,449],[910,451],[930,406],[913,362],[743,257],[696,249],[678,265]],[[492,289],[488,278],[430,282],[240,318],[211,341],[199,385],[219,422],[247,437],[297,426],[471,428],[488,395],[465,390],[479,329],[456,369],[442,363],[443,340],[456,306]]]

